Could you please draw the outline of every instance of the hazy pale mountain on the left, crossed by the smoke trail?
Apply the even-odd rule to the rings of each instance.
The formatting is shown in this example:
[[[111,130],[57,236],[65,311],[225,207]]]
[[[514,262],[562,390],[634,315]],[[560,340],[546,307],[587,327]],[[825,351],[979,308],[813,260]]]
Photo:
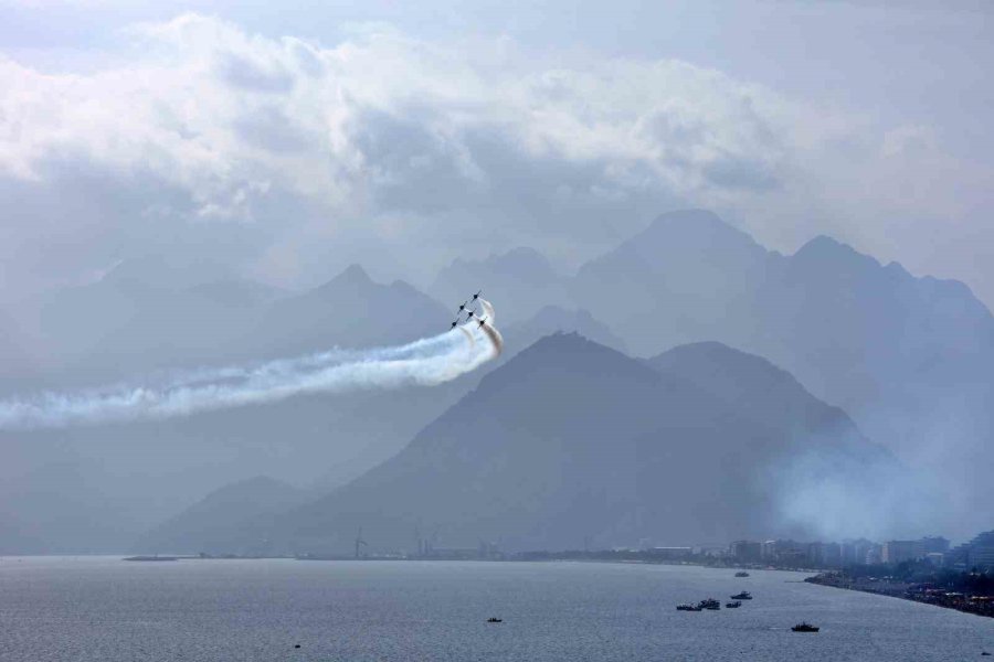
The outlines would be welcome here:
[[[373,282],[359,267],[303,293],[207,268],[172,280],[168,267],[121,264],[49,298],[49,340],[65,341],[49,352],[59,370],[38,383],[14,380],[17,393],[140,380],[159,367],[409,342],[448,327],[437,302],[400,281]],[[74,339],[75,330],[85,338]],[[322,494],[398,452],[474,384],[464,375],[433,388],[313,394],[168,420],[0,430],[0,521],[9,514],[18,531],[31,523],[30,536],[19,538],[31,549],[113,553],[125,548],[121,538],[130,543],[188,505],[190,494],[245,476]],[[46,472],[64,461],[65,476]],[[101,513],[102,527],[59,524],[56,502],[81,523]]]

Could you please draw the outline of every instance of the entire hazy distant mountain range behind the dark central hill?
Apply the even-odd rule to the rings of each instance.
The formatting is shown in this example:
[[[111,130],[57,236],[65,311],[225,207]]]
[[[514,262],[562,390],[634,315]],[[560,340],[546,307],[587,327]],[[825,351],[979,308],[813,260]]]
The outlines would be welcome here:
[[[635,356],[690,343],[679,350],[697,348],[686,370],[673,353],[647,366],[698,387],[718,369],[706,360],[715,345],[695,343],[717,341],[763,356],[794,375],[819,406],[839,406],[917,469],[922,489],[941,494],[937,512],[961,514],[959,530],[988,525],[994,321],[969,288],[916,278],[826,237],[781,255],[702,211],[660,216],[574,276],[528,248],[456,260],[431,286],[444,303],[403,281],[374,282],[359,266],[311,290],[287,292],[209,264],[126,260],[91,285],[36,301],[36,313],[0,316],[0,393],[403,342],[445,330],[455,305],[478,288],[497,305],[505,356],[440,387],[305,396],[155,424],[0,431],[4,540],[21,541],[13,546],[22,551],[119,548],[219,484],[256,474],[314,499],[393,457],[448,407],[484,388],[480,378],[489,383],[518,351],[557,330]],[[665,370],[656,361],[668,362]],[[734,374],[736,363],[722,359],[718,374]],[[723,398],[748,418],[737,404],[752,402],[751,392],[736,389],[743,383],[752,389],[758,382],[721,383],[715,406]],[[803,398],[793,413],[779,412],[778,402],[753,405],[770,408],[757,409],[764,419],[811,415]],[[791,474],[803,482],[804,472]],[[799,503],[791,516],[803,520]]]

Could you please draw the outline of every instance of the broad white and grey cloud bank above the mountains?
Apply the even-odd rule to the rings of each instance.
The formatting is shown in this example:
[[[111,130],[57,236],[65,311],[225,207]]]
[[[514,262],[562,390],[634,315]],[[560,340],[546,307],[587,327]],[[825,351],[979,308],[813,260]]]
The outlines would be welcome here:
[[[19,287],[44,279],[53,245],[92,271],[106,253],[225,233],[223,257],[277,280],[321,276],[347,249],[427,269],[528,243],[575,263],[677,205],[730,212],[778,246],[832,222],[873,244],[852,227],[900,206],[868,189],[900,190],[914,163],[962,167],[928,127],[882,130],[680,61],[553,67],[508,40],[382,28],[328,46],[197,14],[127,38],[117,65],[87,74],[0,60],[0,191],[15,210],[2,257]],[[836,202],[854,182],[846,200],[869,211]]]

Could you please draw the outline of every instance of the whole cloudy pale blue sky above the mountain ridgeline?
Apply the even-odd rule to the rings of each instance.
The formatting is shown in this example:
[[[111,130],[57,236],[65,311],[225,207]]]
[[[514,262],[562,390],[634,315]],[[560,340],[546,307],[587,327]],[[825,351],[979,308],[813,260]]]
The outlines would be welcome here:
[[[151,254],[573,269],[663,212],[994,306],[985,2],[0,0],[0,307]]]

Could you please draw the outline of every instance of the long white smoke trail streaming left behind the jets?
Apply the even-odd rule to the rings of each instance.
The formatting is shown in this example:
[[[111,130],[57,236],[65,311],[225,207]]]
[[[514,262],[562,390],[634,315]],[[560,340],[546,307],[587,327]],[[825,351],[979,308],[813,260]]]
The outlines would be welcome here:
[[[488,332],[490,346],[486,349],[478,346],[470,333],[466,335],[468,351],[464,339],[448,332],[396,348],[335,350],[254,366],[176,372],[154,386],[125,383],[75,394],[47,392],[0,401],[0,429],[161,419],[306,393],[436,385],[500,353],[499,335]]]

